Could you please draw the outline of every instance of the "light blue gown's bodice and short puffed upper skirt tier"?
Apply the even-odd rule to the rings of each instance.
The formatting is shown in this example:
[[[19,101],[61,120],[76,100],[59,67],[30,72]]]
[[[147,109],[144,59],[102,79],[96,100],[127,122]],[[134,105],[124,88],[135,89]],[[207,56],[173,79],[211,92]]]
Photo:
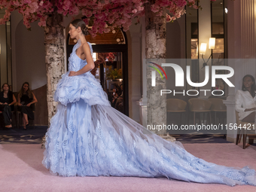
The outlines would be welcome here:
[[[90,53],[93,56],[92,45],[89,42],[88,44],[90,46]],[[78,102],[80,99],[84,99],[88,105],[111,105],[108,101],[107,94],[102,90],[102,85],[99,83],[99,79],[96,79],[90,71],[81,75],[69,77],[69,72],[78,72],[87,65],[87,60],[81,59],[76,54],[76,50],[80,46],[81,41],[79,39],[69,56],[69,71],[62,75],[62,78],[57,84],[54,100],[60,102],[62,105]]]

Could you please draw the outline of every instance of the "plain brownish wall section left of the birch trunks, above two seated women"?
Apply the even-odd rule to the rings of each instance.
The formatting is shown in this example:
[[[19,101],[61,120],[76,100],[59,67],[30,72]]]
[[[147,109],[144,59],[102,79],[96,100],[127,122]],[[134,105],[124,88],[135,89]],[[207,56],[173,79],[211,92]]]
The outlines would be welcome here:
[[[47,82],[44,50],[44,29],[38,22],[32,23],[28,31],[23,18],[14,11],[11,17],[11,41],[14,91],[20,90],[28,81],[32,90]]]

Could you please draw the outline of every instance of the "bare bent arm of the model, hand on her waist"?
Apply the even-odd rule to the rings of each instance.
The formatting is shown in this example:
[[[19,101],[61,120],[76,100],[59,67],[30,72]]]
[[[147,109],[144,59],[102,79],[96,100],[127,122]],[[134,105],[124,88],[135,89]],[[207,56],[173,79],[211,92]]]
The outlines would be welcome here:
[[[90,53],[90,45],[87,43],[83,44],[82,49],[84,50],[85,59],[87,59],[87,65],[80,69],[78,72],[70,72],[69,76],[81,75],[83,73],[89,72],[95,67],[93,57]]]

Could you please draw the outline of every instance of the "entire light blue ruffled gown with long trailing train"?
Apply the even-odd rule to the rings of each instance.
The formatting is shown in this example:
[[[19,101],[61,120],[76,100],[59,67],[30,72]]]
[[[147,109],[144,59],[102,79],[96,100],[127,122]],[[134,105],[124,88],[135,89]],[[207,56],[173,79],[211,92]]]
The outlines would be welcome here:
[[[80,46],[79,40],[69,57],[69,72],[87,65],[76,55]],[[54,99],[59,104],[46,133],[42,163],[51,173],[256,185],[254,169],[219,166],[194,157],[180,142],[168,142],[112,108],[90,72],[73,77],[69,72],[57,84]]]

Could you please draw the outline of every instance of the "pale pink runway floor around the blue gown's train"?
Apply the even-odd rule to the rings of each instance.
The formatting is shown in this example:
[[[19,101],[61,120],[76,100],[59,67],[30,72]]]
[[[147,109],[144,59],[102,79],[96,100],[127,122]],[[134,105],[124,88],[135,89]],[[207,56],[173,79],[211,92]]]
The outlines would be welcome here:
[[[256,169],[255,148],[231,143],[184,144],[191,154],[224,166],[251,165]],[[0,191],[256,191],[256,187],[197,184],[166,178],[73,177],[50,175],[41,164],[40,145],[0,145]]]

